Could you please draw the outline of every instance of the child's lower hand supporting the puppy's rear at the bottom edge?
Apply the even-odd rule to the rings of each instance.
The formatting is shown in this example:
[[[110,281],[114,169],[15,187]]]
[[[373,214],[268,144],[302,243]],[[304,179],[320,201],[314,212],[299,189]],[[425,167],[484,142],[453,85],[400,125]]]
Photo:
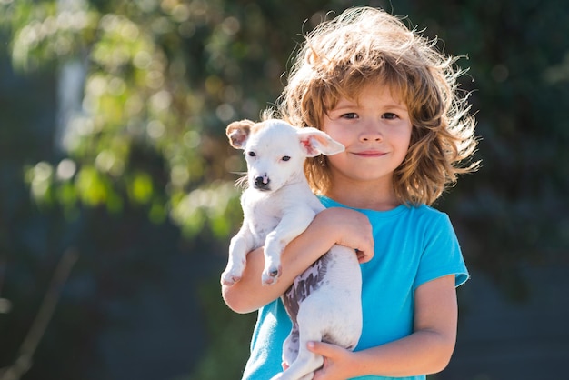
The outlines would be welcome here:
[[[345,380],[352,377],[349,372],[354,367],[352,351],[322,342],[308,342],[308,349],[324,356],[324,365],[314,372],[313,380]]]

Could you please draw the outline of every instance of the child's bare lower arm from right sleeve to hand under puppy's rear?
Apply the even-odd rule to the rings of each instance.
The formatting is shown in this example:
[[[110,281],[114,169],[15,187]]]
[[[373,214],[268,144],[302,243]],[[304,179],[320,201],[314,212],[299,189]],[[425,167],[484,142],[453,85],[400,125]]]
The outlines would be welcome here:
[[[448,365],[456,342],[458,307],[454,275],[419,286],[415,291],[414,333],[359,352],[336,345],[311,343],[324,355],[324,368],[314,380],[340,380],[359,375],[404,377],[434,374]]]

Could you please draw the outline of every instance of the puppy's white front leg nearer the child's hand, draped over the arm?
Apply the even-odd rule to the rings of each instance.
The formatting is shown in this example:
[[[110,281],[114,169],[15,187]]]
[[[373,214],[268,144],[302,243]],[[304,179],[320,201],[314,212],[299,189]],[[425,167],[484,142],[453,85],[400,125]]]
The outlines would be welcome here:
[[[265,268],[263,269],[263,285],[272,285],[281,275],[281,254],[284,247],[294,237],[302,234],[314,219],[313,210],[298,207],[287,210],[281,222],[265,239]]]

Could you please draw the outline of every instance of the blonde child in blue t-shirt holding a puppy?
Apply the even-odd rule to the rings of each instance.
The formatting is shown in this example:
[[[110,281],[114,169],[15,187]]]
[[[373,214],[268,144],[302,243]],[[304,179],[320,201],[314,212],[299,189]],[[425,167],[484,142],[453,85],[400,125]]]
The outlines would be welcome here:
[[[429,205],[474,153],[474,117],[457,91],[454,59],[392,15],[353,8],[307,35],[278,103],[292,125],[316,126],[344,153],[309,159],[305,172],[328,207],[288,245],[282,277],[262,286],[262,249],[227,305],[258,311],[244,379],[282,370],[291,323],[279,296],[334,244],[357,250],[364,329],[354,352],[314,342],[314,379],[424,379],[448,364],[457,324],[455,287],[468,272],[447,215]]]

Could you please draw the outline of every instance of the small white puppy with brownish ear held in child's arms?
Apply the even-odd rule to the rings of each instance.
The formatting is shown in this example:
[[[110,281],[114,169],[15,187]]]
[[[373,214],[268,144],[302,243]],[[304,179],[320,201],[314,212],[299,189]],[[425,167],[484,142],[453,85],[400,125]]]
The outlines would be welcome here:
[[[226,134],[232,146],[245,150],[248,187],[241,197],[244,221],[229,246],[224,285],[241,279],[246,255],[265,246],[264,285],[280,273],[284,247],[300,235],[324,209],[304,176],[304,159],[334,155],[344,146],[324,132],[295,128],[282,120],[232,123]],[[309,267],[282,296],[293,322],[283,345],[288,366],[274,379],[312,379],[324,359],[306,349],[309,341],[323,341],[354,349],[362,331],[362,275],[354,250],[334,247]]]

